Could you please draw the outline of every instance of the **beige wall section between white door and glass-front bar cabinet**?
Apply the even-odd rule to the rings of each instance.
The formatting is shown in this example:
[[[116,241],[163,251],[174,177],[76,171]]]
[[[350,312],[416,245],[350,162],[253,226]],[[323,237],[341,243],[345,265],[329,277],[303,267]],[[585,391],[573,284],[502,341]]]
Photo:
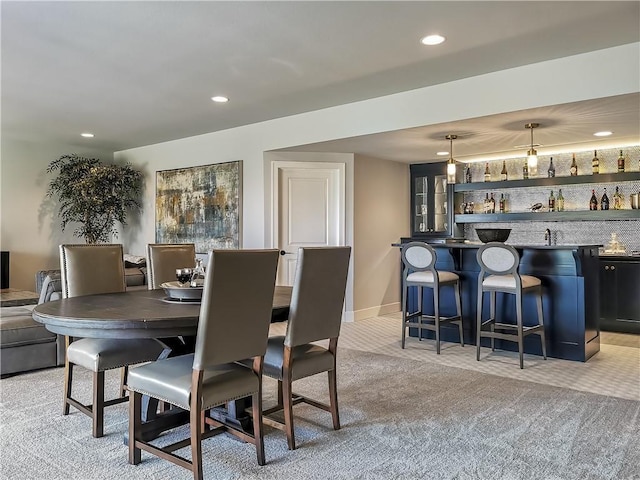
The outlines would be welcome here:
[[[409,166],[356,155],[354,317],[400,310],[400,250],[409,235]]]

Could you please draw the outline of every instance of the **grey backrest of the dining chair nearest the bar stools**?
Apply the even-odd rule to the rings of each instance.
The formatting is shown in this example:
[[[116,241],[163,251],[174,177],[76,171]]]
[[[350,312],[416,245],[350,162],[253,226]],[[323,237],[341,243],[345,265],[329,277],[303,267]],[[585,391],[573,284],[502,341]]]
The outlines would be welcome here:
[[[340,334],[351,247],[304,247],[298,252],[284,340],[288,347]]]

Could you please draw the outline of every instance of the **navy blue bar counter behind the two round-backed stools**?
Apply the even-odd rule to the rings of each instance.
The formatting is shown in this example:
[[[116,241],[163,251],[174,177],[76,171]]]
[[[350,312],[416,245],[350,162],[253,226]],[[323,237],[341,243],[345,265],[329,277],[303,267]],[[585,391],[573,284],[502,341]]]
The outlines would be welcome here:
[[[393,246],[401,247],[411,241],[403,238]],[[419,240],[420,241],[420,240]],[[476,254],[481,243],[432,243],[427,241],[437,255],[436,268],[456,272],[460,276],[462,317],[465,344],[475,345],[476,298],[480,265]],[[520,254],[519,272],[533,275],[542,281],[542,308],[544,313],[547,355],[565,360],[587,361],[600,351],[598,248],[601,245],[512,245]],[[410,308],[417,308],[417,289],[409,292]],[[440,291],[441,314],[453,315],[455,303],[451,289]],[[515,295],[498,294],[497,315],[513,319],[515,323]],[[429,312],[433,305],[431,289],[424,289],[424,305]],[[488,301],[484,302],[484,318],[489,315]],[[431,310],[432,312],[432,310]],[[535,300],[523,297],[525,325],[536,323]],[[441,327],[441,338],[457,342],[457,327]],[[410,329],[409,336],[417,337],[417,329]],[[433,338],[433,332],[423,331],[424,338]],[[484,343],[486,342],[486,344]],[[489,346],[489,339],[483,339]],[[514,342],[496,341],[496,348],[517,350]],[[536,335],[525,338],[525,353],[541,355],[540,341]],[[473,354],[470,353],[470,355]]]

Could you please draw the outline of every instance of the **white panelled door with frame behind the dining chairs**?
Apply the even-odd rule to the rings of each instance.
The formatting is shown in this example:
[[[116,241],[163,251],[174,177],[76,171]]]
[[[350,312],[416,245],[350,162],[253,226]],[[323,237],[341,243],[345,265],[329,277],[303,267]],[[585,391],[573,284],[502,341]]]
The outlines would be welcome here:
[[[293,285],[299,247],[344,245],[345,166],[273,162],[273,245],[278,285]]]

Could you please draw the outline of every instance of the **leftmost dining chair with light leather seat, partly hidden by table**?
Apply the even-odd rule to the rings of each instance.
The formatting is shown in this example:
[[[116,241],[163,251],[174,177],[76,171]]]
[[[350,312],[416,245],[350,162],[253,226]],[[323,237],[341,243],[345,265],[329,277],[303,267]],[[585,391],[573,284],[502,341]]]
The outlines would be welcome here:
[[[100,293],[125,291],[124,261],[120,244],[60,245],[62,297],[78,297]],[[62,414],[68,415],[70,406],[92,418],[92,434],[104,434],[104,408],[126,402],[128,365],[154,360],[164,346],[154,339],[80,338],[65,337],[64,402]],[[72,397],[73,367],[81,366],[93,372],[91,405]],[[123,367],[120,392],[117,398],[105,401],[104,376],[106,370]]]

